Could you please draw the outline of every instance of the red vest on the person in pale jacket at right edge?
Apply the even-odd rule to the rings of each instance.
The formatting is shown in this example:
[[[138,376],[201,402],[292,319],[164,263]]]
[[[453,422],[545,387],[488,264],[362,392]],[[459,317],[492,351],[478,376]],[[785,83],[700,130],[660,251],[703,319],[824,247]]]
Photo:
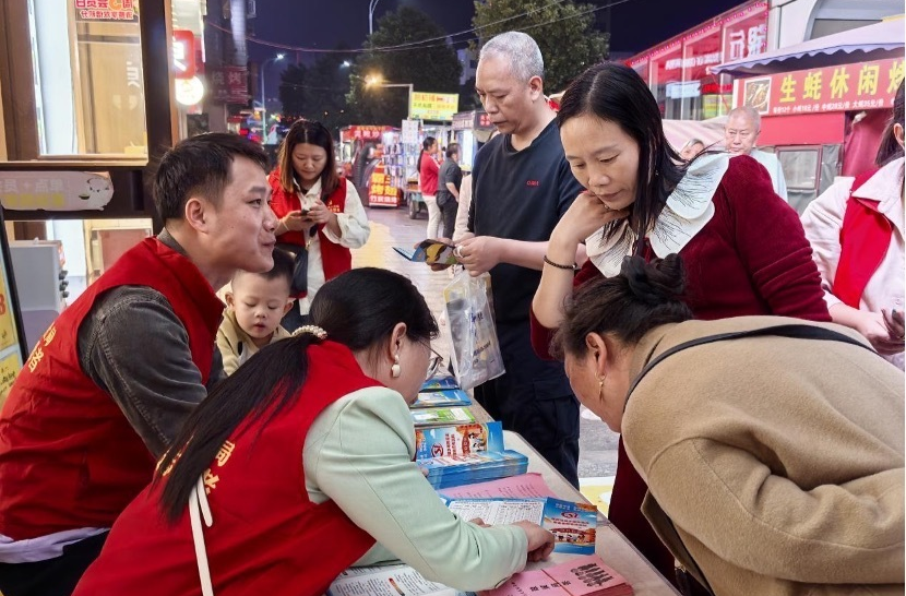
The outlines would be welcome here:
[[[893,237],[893,224],[878,211],[880,201],[853,196],[877,171],[856,177],[839,233],[841,254],[833,293],[857,310],[866,286],[881,266]]]

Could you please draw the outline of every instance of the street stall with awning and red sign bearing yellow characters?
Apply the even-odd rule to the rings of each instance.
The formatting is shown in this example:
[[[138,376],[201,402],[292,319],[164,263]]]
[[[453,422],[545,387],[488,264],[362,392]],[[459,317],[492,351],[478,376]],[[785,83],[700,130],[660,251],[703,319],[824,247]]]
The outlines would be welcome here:
[[[837,176],[871,167],[903,81],[901,19],[712,68],[732,73],[734,107],[762,116],[759,146],[774,147],[798,212]]]

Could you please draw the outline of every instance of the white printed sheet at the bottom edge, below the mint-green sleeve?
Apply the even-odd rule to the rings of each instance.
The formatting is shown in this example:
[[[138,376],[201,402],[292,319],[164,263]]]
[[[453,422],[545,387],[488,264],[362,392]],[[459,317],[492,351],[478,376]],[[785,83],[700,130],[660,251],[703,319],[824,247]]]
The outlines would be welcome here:
[[[466,596],[429,582],[409,565],[350,567],[334,580],[329,596]]]

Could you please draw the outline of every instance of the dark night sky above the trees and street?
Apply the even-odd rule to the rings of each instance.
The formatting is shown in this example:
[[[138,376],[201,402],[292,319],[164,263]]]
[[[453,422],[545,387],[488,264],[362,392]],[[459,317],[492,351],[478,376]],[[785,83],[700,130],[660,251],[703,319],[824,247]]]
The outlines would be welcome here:
[[[615,1],[621,0],[586,3],[604,7]],[[642,51],[741,3],[742,0],[622,0],[611,8],[610,49]],[[257,0],[258,17],[253,26],[257,37],[269,41],[324,49],[345,43],[359,48],[368,35],[368,4],[369,0]],[[381,15],[401,5],[425,11],[451,34],[470,28],[475,10],[473,0],[379,0],[374,27]],[[656,21],[652,20],[653,15],[657,16]],[[249,43],[253,60],[266,59],[277,51],[282,50]],[[299,53],[306,62],[317,56]]]

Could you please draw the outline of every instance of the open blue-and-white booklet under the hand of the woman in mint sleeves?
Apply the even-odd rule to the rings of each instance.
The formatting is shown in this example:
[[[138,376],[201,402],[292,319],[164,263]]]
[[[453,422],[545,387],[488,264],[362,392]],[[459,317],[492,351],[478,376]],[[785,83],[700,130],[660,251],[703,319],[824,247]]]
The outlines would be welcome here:
[[[454,499],[450,511],[488,525],[533,522],[553,534],[556,552],[594,555],[597,509],[560,499]]]

